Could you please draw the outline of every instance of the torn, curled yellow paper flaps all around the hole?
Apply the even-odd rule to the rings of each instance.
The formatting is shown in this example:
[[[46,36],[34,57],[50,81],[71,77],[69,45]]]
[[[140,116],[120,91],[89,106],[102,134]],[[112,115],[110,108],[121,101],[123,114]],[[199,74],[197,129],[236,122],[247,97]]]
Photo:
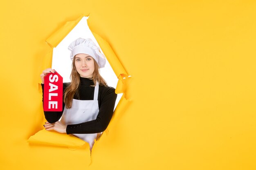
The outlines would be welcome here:
[[[76,24],[83,18],[83,16],[80,16],[75,21],[66,22],[64,26],[61,27],[58,31],[56,31],[53,35],[51,35],[46,41],[51,46],[52,51],[47,53],[43,59],[42,68],[49,68],[52,65],[52,53],[53,48],[56,47],[62,40],[65,38],[65,36],[76,26]],[[93,33],[93,32],[92,32]],[[110,44],[101,38],[97,33],[93,33],[94,38],[97,40],[98,44],[100,45],[103,53],[105,54],[108,62],[110,63],[113,71],[115,72],[116,76],[118,77],[118,83],[116,87],[115,93],[124,93],[124,95],[121,97],[121,100],[119,101],[117,108],[115,109],[114,116],[112,120],[110,121],[110,127],[112,122],[117,119],[117,115],[121,114],[126,106],[128,106],[128,102],[130,100],[126,97],[126,81],[127,79],[131,78],[128,77],[127,72],[125,71],[124,67],[122,66],[121,62],[118,60],[117,56],[115,55],[113,49],[111,48]],[[41,85],[38,84],[39,91],[42,92]],[[109,130],[108,128],[104,131],[106,132],[106,135],[108,134]],[[62,139],[64,138],[65,139]],[[72,141],[73,139],[76,139]],[[58,132],[48,132],[47,130],[40,130],[37,132],[34,136],[31,136],[28,140],[30,143],[35,144],[48,144],[48,145],[54,145],[54,146],[69,146],[69,147],[76,147],[80,146],[81,144],[88,144],[87,142],[83,141],[81,143],[81,139],[77,137],[72,136],[72,138],[67,138],[66,135],[59,134]],[[98,139],[99,141],[99,139]],[[95,144],[98,142],[95,140]],[[74,146],[73,146],[74,145]]]

